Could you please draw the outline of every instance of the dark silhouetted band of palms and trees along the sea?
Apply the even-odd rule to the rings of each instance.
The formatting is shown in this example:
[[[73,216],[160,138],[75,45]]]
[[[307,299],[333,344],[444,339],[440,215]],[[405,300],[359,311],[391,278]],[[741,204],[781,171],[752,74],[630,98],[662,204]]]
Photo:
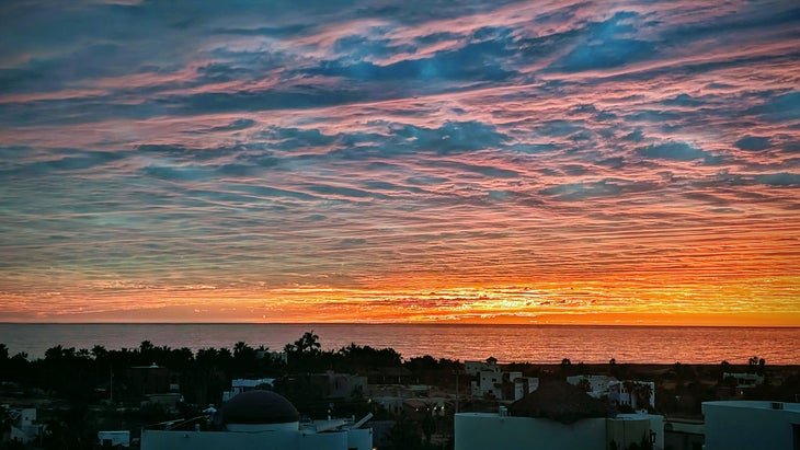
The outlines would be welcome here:
[[[10,356],[8,347],[0,344],[0,381],[18,385],[22,392],[34,389],[69,401],[136,401],[141,393],[129,380],[130,369],[152,365],[169,369],[185,401],[194,404],[218,403],[221,392],[230,389],[235,378],[281,379],[327,370],[391,373],[387,369],[402,368],[414,381],[442,384],[462,367],[459,361],[430,356],[404,361],[392,348],[356,344],[322,350],[319,336],[312,332],[278,350],[238,342],[232,348],[209,347],[193,351],[187,347],[172,348],[144,341],[138,348],[121,349],[107,349],[102,345],[91,349],[57,345],[47,349],[44,358],[30,359],[24,353]]]

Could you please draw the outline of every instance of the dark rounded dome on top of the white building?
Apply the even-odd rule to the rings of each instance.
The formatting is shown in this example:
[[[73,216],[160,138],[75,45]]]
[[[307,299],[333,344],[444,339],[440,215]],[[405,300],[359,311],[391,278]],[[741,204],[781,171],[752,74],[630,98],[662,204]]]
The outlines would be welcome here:
[[[272,391],[248,391],[229,400],[219,409],[226,424],[288,424],[300,413],[286,397]]]

